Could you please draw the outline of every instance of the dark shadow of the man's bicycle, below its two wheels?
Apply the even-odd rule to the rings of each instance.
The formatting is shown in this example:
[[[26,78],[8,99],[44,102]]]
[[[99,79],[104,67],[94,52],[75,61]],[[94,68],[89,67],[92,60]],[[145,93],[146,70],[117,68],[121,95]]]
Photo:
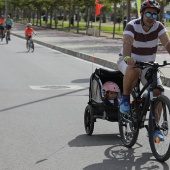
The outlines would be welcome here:
[[[105,151],[105,156],[102,163],[92,164],[84,170],[169,170],[167,163],[157,162],[152,153],[142,153],[136,155],[136,148],[126,148],[121,145],[111,146]]]

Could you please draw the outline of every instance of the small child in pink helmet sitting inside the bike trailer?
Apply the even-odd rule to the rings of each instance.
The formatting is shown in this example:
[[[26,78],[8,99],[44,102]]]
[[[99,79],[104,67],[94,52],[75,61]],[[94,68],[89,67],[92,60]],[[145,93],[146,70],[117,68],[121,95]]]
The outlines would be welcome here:
[[[118,106],[120,104],[120,99],[118,99],[118,93],[120,92],[119,86],[112,81],[107,81],[104,83],[103,89],[105,91],[104,101],[106,105]]]

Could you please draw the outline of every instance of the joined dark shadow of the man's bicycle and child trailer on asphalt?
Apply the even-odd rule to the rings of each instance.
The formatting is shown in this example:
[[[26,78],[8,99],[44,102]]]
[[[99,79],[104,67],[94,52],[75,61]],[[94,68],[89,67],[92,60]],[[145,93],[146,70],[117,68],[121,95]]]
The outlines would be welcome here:
[[[68,143],[70,147],[104,146],[108,147],[104,155],[106,159],[101,163],[89,165],[84,170],[169,170],[167,163],[161,163],[154,159],[152,153],[138,153],[138,148],[143,147],[139,143],[133,148],[126,148],[122,145],[119,134],[100,134],[100,135],[79,135]]]

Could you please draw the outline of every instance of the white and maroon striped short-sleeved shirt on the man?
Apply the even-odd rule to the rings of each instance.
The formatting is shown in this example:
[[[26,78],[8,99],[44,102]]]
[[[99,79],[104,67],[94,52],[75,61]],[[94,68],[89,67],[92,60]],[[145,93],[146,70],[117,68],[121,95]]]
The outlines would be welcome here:
[[[159,21],[156,21],[148,32],[143,30],[141,19],[130,21],[124,30],[124,34],[134,38],[131,57],[138,61],[155,61],[158,38],[165,32],[165,27]],[[123,47],[120,56],[123,56]]]

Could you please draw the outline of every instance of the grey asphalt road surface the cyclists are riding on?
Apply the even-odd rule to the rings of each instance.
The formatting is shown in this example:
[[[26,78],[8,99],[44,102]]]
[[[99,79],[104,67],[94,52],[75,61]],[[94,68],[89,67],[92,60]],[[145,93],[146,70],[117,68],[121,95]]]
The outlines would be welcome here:
[[[152,156],[146,130],[132,149],[122,146],[117,122],[97,120],[84,130],[89,78],[99,65],[25,40],[0,42],[0,169],[164,169]],[[170,96],[169,88],[166,88]]]

